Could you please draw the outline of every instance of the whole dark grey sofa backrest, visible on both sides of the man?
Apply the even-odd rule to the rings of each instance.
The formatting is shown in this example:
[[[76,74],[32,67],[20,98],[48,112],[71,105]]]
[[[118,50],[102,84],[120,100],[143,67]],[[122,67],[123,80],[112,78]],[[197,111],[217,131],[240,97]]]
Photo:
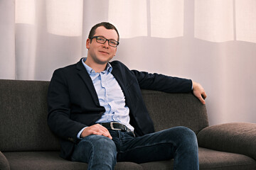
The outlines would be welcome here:
[[[47,125],[49,81],[0,80],[0,151],[59,150]],[[142,90],[155,130],[178,125],[194,132],[208,126],[206,106],[193,94]]]

